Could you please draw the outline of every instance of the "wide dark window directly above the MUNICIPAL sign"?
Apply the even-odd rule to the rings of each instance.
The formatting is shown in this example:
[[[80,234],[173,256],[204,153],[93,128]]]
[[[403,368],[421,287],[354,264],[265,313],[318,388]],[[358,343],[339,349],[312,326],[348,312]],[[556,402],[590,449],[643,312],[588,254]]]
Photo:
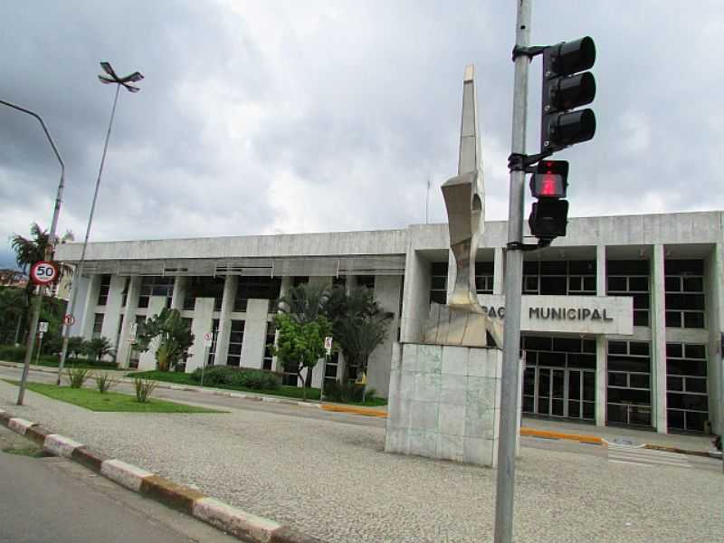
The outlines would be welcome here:
[[[595,261],[523,262],[523,294],[595,296]]]

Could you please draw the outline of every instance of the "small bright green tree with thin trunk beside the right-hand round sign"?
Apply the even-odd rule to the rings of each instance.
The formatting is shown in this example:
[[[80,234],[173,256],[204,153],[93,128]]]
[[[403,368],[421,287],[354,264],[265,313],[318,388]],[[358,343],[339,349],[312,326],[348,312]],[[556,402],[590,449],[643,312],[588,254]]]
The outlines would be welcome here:
[[[302,398],[307,399],[307,387],[311,386],[312,369],[319,358],[324,357],[324,338],[329,336],[331,326],[323,315],[310,322],[300,322],[291,314],[280,313],[274,318],[279,331],[277,345],[270,345],[271,352],[278,357],[281,366],[289,373],[297,375],[301,381]],[[302,378],[301,371],[307,368],[307,377]]]

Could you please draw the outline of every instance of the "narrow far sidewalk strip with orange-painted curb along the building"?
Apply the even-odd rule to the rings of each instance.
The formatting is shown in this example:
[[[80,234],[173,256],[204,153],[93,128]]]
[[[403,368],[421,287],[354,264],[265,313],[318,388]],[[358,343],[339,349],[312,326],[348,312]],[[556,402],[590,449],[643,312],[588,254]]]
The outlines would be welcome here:
[[[0,361],[0,366],[22,367],[18,362]],[[57,374],[57,368],[34,366],[33,371]],[[103,370],[119,378],[121,382],[131,383],[132,379],[125,377],[132,369],[124,370]],[[359,414],[386,418],[386,405],[379,407],[364,407],[360,405],[336,404],[332,402],[303,402],[294,398],[283,396],[263,395],[250,392],[235,392],[224,388],[212,388],[208,386],[176,385],[173,383],[158,382],[159,388],[170,390],[193,391],[201,394],[221,395],[239,399],[266,401],[287,405],[299,405],[302,407],[320,408],[325,411],[337,413]],[[644,446],[651,449],[662,449],[671,452],[684,454],[696,454],[700,456],[711,456],[720,458],[720,453],[711,444],[713,436],[681,433],[656,433],[650,430],[639,430],[629,427],[618,426],[595,426],[594,424],[581,424],[567,420],[550,420],[537,417],[523,416],[520,428],[521,435],[541,437],[547,439],[567,439],[581,443],[607,444],[619,443],[632,446]]]

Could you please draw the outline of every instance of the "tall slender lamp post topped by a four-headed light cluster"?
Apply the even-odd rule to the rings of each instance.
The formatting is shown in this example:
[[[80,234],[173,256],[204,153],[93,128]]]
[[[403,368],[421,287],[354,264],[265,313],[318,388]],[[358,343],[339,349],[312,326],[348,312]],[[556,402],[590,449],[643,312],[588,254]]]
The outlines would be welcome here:
[[[116,74],[116,71],[113,70],[113,67],[110,65],[110,62],[100,62],[100,67],[103,69],[103,71],[106,72],[106,74],[100,74],[98,76],[98,79],[101,83],[104,85],[116,85],[116,95],[113,98],[113,108],[110,110],[110,121],[108,123],[108,132],[106,133],[106,142],[103,145],[103,155],[100,157],[100,168],[98,170],[98,179],[96,179],[96,188],[95,192],[93,193],[93,201],[90,204],[90,215],[88,216],[88,226],[85,230],[85,239],[83,240],[83,248],[81,250],[81,260],[78,262],[78,267],[75,270],[75,273],[73,274],[73,282],[71,287],[71,306],[70,310],[68,310],[68,313],[71,315],[75,314],[75,303],[78,300],[78,287],[79,287],[79,281],[81,281],[81,275],[83,273],[83,261],[85,260],[85,252],[88,248],[88,238],[90,237],[90,225],[93,223],[93,214],[96,210],[96,201],[98,200],[98,189],[100,187],[100,176],[103,173],[103,165],[106,162],[106,153],[108,151],[108,141],[110,139],[110,129],[113,127],[113,118],[116,115],[116,104],[119,101],[119,90],[120,87],[123,86],[126,90],[129,92],[138,92],[138,87],[135,87],[134,85],[131,85],[130,83],[135,83],[138,81],[141,81],[143,79],[143,76],[138,71],[134,71],[130,75],[127,75],[125,77],[119,77]],[[62,332],[62,349],[61,349],[61,361],[58,364],[58,377],[56,379],[56,383],[58,385],[61,384],[61,376],[62,376],[62,368],[65,365],[65,357],[68,355],[68,340],[71,335],[71,324],[65,324],[63,323],[64,328]]]

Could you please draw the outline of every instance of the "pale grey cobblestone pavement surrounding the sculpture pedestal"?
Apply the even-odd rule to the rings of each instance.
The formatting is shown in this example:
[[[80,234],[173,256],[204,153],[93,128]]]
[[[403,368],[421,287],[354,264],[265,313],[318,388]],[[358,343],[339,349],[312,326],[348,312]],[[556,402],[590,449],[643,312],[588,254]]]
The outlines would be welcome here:
[[[0,382],[0,408],[329,542],[492,540],[495,472],[383,452],[385,431],[284,414],[92,413]],[[523,449],[516,541],[721,541],[724,475]]]

